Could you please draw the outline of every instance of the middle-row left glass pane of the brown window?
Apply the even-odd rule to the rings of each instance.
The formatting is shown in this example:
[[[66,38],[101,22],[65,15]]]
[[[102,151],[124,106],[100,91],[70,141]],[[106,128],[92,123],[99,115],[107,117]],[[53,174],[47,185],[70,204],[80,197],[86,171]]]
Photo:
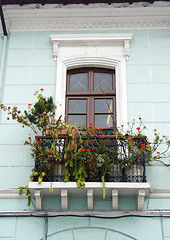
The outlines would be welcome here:
[[[69,113],[86,113],[87,100],[71,99],[69,100]]]

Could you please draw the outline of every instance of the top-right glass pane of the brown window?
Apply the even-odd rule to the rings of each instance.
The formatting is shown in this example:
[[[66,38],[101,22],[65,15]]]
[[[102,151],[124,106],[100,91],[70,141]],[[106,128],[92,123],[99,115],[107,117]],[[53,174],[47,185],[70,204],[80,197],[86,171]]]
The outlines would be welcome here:
[[[101,87],[103,90],[112,90],[112,81],[111,73],[94,72],[94,91],[101,91]]]

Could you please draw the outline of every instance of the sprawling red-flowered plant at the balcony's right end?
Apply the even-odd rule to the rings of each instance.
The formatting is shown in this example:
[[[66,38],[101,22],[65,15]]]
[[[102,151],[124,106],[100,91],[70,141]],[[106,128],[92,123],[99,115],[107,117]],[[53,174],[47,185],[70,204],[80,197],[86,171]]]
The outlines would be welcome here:
[[[129,162],[133,162],[137,158],[141,159],[145,155],[148,165],[151,165],[152,161],[159,161],[169,166],[169,164],[165,164],[161,159],[169,157],[170,140],[164,135],[161,137],[157,129],[154,129],[153,141],[151,141],[145,134],[146,128],[141,117],[139,117],[138,124],[133,119],[131,123],[128,122],[126,131],[124,131],[123,126],[121,131],[117,130],[117,139],[122,139],[128,145]]]

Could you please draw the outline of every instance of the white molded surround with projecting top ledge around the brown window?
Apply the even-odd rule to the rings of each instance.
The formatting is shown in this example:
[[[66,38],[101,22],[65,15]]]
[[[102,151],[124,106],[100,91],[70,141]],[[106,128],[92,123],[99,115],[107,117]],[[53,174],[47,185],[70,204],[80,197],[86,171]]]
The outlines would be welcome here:
[[[117,126],[127,123],[126,60],[132,34],[50,35],[57,61],[56,118],[65,118],[67,71],[81,67],[115,69]]]

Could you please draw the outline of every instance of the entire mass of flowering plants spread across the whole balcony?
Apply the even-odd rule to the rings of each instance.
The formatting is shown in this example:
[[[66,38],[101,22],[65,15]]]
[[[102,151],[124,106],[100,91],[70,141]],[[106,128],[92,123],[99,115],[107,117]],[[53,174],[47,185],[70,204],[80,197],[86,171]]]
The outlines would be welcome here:
[[[31,156],[35,161],[30,180],[36,180],[39,184],[48,180],[54,165],[65,161],[65,181],[76,181],[77,186],[84,188],[86,181],[101,181],[103,183],[103,197],[105,197],[105,180],[111,174],[110,169],[116,163],[121,169],[127,166],[130,168],[136,161],[146,161],[149,165],[151,161],[159,161],[165,164],[164,157],[168,156],[170,141],[166,136],[160,137],[157,129],[153,130],[154,139],[149,141],[144,131],[146,126],[139,118],[139,123],[128,123],[128,128],[116,128],[112,132],[112,137],[105,137],[102,128],[96,128],[92,124],[89,127],[69,126],[61,120],[61,116],[55,119],[56,106],[52,97],[45,98],[42,94],[44,90],[35,93],[37,101],[34,105],[28,104],[28,109],[22,114],[17,107],[0,105],[0,108],[16,120],[22,127],[32,129],[34,137],[28,136],[26,145],[31,148]],[[7,117],[7,120],[10,118]],[[60,134],[57,129],[67,129],[66,144],[56,146],[60,141]],[[46,130],[50,131],[51,143],[44,144],[42,137]],[[108,142],[113,139],[115,147],[110,149]],[[118,145],[118,143],[121,143]],[[160,150],[164,146],[165,150]],[[26,189],[28,202],[30,195],[28,186],[19,187],[19,193]],[[50,187],[50,192],[53,191]]]

